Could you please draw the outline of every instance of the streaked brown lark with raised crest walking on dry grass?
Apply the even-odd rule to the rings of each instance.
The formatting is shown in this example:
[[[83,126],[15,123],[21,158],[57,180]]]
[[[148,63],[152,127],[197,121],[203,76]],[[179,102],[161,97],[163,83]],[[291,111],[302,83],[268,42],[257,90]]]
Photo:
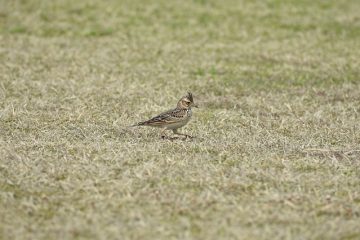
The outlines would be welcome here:
[[[185,138],[192,138],[192,136],[179,133],[178,129],[185,126],[191,119],[192,107],[198,108],[198,105],[194,103],[193,95],[188,92],[185,96],[180,98],[176,108],[163,112],[149,120],[136,123],[132,127],[136,126],[150,126],[162,128],[161,137],[166,138],[165,131],[172,130],[176,135],[185,136]]]

